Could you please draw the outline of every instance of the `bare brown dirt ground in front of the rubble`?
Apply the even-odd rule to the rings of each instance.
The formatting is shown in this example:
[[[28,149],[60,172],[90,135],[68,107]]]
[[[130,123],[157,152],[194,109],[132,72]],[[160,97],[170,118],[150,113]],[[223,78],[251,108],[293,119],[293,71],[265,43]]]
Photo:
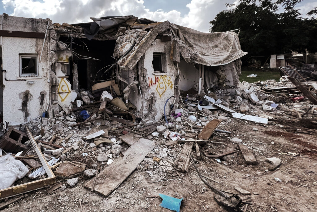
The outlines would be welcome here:
[[[224,142],[227,145],[206,142],[202,143],[200,148],[214,154],[230,150],[236,150],[236,153],[223,157],[221,163],[204,156],[195,162],[201,174],[219,182],[206,179],[210,184],[235,194],[238,192],[234,187],[252,192],[252,206],[248,206],[247,211],[317,211],[315,132],[293,133],[297,129],[305,130],[299,123],[281,122],[279,125],[265,127],[261,124],[234,120],[234,123],[223,126],[232,132],[231,135],[221,133],[214,136],[214,139],[226,139]],[[253,131],[253,127],[258,131]],[[230,142],[227,136],[240,138],[244,144],[252,147],[257,164],[247,165],[238,146]],[[194,152],[193,150],[193,155]],[[293,157],[293,154],[288,153],[300,154]],[[275,171],[268,171],[271,165],[265,159],[269,157],[278,157],[282,160],[281,166]],[[281,179],[281,182],[275,178]],[[159,193],[184,198],[180,208],[183,212],[227,211],[215,202],[214,193],[200,180],[192,164],[188,173],[181,173],[181,176],[177,175],[175,170],[153,177],[144,170],[135,170],[116,189],[112,197],[90,192],[83,187],[86,181],[81,178],[74,188],[60,188],[51,194],[47,192],[49,187],[30,192],[19,202],[3,209],[3,212],[170,211],[159,206],[162,202],[160,197],[146,197]]]

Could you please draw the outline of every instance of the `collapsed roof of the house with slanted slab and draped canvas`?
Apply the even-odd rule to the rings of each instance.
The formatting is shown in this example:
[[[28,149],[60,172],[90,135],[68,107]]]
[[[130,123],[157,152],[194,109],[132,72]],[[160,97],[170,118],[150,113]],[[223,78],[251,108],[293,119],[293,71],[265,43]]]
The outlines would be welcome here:
[[[238,35],[235,32],[204,33],[184,26],[171,24],[168,21],[155,22],[149,19],[139,19],[135,16],[91,18],[94,22],[64,25],[68,31],[77,29],[79,34],[84,31],[85,37],[91,39],[117,39],[118,27],[129,26],[130,29],[147,30],[148,33],[138,43],[127,49],[119,58],[121,68],[132,69],[148,47],[158,35],[171,35],[173,42],[171,57],[173,61],[180,62],[180,56],[187,63],[196,63],[207,66],[228,64],[247,52],[241,50]],[[58,27],[59,29],[61,26]],[[78,30],[78,29],[83,30]],[[62,31],[60,31],[62,32]],[[77,33],[77,34],[78,34]],[[83,37],[83,36],[79,36]],[[137,37],[136,37],[137,38]],[[135,38],[135,39],[136,39]]]

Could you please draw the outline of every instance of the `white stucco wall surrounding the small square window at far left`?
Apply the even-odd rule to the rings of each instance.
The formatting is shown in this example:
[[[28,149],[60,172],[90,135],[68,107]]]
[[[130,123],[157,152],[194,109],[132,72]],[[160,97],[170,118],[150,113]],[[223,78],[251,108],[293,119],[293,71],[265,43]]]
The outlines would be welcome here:
[[[3,30],[10,31],[29,31],[29,32],[46,32],[46,27],[50,20],[22,18],[22,17],[3,17]],[[34,119],[38,115],[42,115],[46,111],[49,104],[49,45],[46,37],[43,53],[42,65],[40,63],[40,55],[43,38],[18,38],[3,37],[2,38],[2,59],[3,70],[6,70],[6,78],[8,80],[26,79],[34,81],[33,85],[27,85],[27,81],[6,81],[3,72],[3,119],[10,122],[11,125],[23,123],[25,121],[24,112],[22,111],[22,99],[19,94],[29,91],[32,96],[28,101],[28,114],[30,119]],[[19,77],[19,54],[37,54],[38,55],[38,77]],[[44,104],[40,105],[41,92],[45,93]]]

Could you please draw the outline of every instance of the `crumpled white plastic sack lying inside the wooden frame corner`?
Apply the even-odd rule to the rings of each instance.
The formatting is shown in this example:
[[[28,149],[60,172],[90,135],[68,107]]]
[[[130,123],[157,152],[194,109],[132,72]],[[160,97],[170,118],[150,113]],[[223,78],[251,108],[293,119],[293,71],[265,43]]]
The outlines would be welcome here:
[[[29,169],[22,161],[10,154],[0,157],[0,189],[9,188],[16,180],[23,178]]]

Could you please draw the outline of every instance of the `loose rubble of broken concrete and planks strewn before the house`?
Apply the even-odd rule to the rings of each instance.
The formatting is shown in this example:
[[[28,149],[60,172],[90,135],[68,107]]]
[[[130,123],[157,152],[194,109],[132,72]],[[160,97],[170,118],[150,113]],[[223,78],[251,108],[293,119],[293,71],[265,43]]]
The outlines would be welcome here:
[[[241,156],[244,157],[246,164],[253,164],[253,161],[248,162],[248,160],[249,157],[255,157],[257,158],[255,163],[259,160],[262,160],[262,163],[269,162],[265,171],[274,171],[282,164],[280,158],[259,159],[263,157],[262,155],[267,155],[265,146],[258,147],[251,140],[240,139],[239,131],[232,133],[228,130],[229,126],[239,125],[241,122],[256,124],[257,121],[236,119],[232,114],[243,113],[250,117],[260,117],[267,120],[267,125],[279,127],[282,127],[283,123],[300,121],[305,127],[315,129],[317,105],[312,105],[305,97],[301,101],[293,100],[294,95],[302,95],[296,89],[291,92],[285,90],[279,93],[263,92],[263,89],[268,90],[271,86],[283,89],[293,85],[267,80],[253,84],[243,82],[241,92],[237,91],[234,94],[225,89],[208,95],[184,93],[182,96],[184,104],[178,103],[174,106],[174,109],[182,109],[180,116],[174,118],[167,114],[158,123],[147,119],[136,119],[137,113],[133,114],[133,108],[129,109],[129,113],[113,116],[113,121],[111,118],[104,118],[111,115],[110,112],[106,112],[107,110],[113,110],[114,113],[115,108],[109,105],[107,110],[100,110],[102,102],[96,101],[89,92],[82,91],[81,98],[86,107],[81,109],[75,107],[67,112],[62,110],[51,119],[42,117],[31,120],[27,127],[32,129],[32,135],[44,158],[47,161],[54,158],[59,160],[58,163],[55,162],[55,167],[54,164],[50,164],[50,167],[53,168],[56,178],[64,181],[69,187],[76,187],[78,182],[90,178],[94,181],[101,168],[105,170],[118,158],[124,157],[126,150],[134,145],[134,143],[126,143],[127,141],[122,137],[129,133],[136,140],[143,137],[155,141],[153,150],[145,155],[145,159],[140,164],[136,164],[137,172],[145,173],[152,179],[164,181],[169,180],[171,176],[181,177],[183,176],[181,172],[189,170],[191,157],[194,163],[197,163],[205,160],[202,159],[204,156],[209,157],[208,160],[214,163],[218,162],[225,166],[238,163],[238,160],[240,161],[238,157]],[[112,100],[108,98],[104,101]],[[206,106],[216,106],[218,109],[206,109],[204,108]],[[88,118],[83,115],[83,111],[89,115]],[[165,123],[165,118],[168,123]],[[219,123],[204,140],[199,139],[204,127],[213,120],[219,120]],[[268,127],[262,123],[258,125]],[[314,132],[314,130],[309,131],[310,129],[302,131]],[[259,129],[253,127],[252,131],[255,133]],[[21,131],[18,132],[23,134]],[[0,142],[3,149],[4,142],[7,142],[5,137]],[[231,143],[230,147],[229,143]],[[270,143],[275,144],[273,140]],[[31,142],[26,141],[24,145],[27,148],[19,155],[28,159],[33,157],[35,162],[41,163],[35,157],[36,152]],[[195,150],[192,150],[192,147]],[[236,153],[239,149],[242,155]],[[300,154],[300,151],[286,154],[293,156]],[[34,171],[30,165],[26,164],[26,167],[29,170],[28,174]],[[38,176],[38,178],[45,177],[45,175]],[[59,188],[68,189],[65,184]],[[243,188],[234,189],[242,195],[251,194]],[[224,200],[218,198],[219,201]]]

